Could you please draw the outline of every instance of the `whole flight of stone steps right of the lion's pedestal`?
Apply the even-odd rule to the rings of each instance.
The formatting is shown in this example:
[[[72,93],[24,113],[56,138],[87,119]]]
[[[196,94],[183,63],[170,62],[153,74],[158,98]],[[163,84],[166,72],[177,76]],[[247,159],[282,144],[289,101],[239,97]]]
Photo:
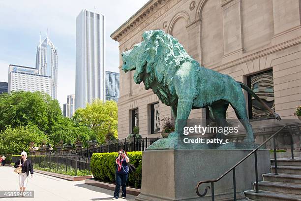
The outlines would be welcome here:
[[[301,157],[277,159],[278,175],[275,175],[274,159],[271,159],[271,172],[263,174],[256,190],[245,191],[249,201],[301,201]],[[254,183],[255,189],[255,183]]]

